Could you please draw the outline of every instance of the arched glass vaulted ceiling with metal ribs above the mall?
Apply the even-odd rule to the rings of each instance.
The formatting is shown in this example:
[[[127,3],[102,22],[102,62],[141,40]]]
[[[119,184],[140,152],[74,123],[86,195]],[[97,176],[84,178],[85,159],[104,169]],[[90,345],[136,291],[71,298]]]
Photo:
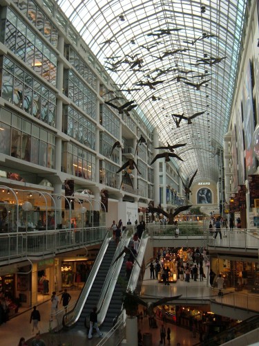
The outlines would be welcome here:
[[[176,150],[182,173],[198,168],[196,179],[218,181],[247,0],[57,3],[115,84],[140,89],[125,97],[157,127],[160,141],[187,143]],[[155,89],[136,85],[157,81]],[[172,116],[200,112],[179,127]]]

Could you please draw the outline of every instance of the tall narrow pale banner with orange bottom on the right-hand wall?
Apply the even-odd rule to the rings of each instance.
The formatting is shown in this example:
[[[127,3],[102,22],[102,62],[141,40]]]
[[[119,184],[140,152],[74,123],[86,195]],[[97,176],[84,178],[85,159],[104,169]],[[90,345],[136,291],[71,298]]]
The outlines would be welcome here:
[[[256,158],[253,153],[252,137],[254,131],[253,94],[251,84],[251,62],[247,66],[247,73],[243,86],[243,112],[244,112],[244,145],[246,172],[252,174],[256,170]]]

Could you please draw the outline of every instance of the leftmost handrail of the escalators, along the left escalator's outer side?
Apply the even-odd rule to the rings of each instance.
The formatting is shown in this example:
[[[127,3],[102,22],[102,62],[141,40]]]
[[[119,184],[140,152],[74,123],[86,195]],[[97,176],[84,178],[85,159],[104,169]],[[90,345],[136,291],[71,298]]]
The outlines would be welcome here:
[[[99,250],[95,263],[93,264],[93,268],[90,271],[90,275],[88,276],[88,279],[86,280],[86,284],[84,285],[81,291],[81,294],[79,295],[79,298],[77,300],[77,303],[75,304],[74,309],[69,311],[68,313],[65,313],[65,315],[63,316],[62,325],[64,327],[70,327],[71,325],[74,325],[75,322],[77,322],[81,314],[81,311],[84,308],[86,299],[88,298],[90,288],[93,285],[93,282],[99,270],[99,266],[102,263],[102,258],[104,257],[104,254],[106,253],[106,249],[108,248],[110,239],[111,237],[109,236],[109,230],[108,230],[106,232],[106,237],[104,238],[104,242],[102,244],[102,247]]]

